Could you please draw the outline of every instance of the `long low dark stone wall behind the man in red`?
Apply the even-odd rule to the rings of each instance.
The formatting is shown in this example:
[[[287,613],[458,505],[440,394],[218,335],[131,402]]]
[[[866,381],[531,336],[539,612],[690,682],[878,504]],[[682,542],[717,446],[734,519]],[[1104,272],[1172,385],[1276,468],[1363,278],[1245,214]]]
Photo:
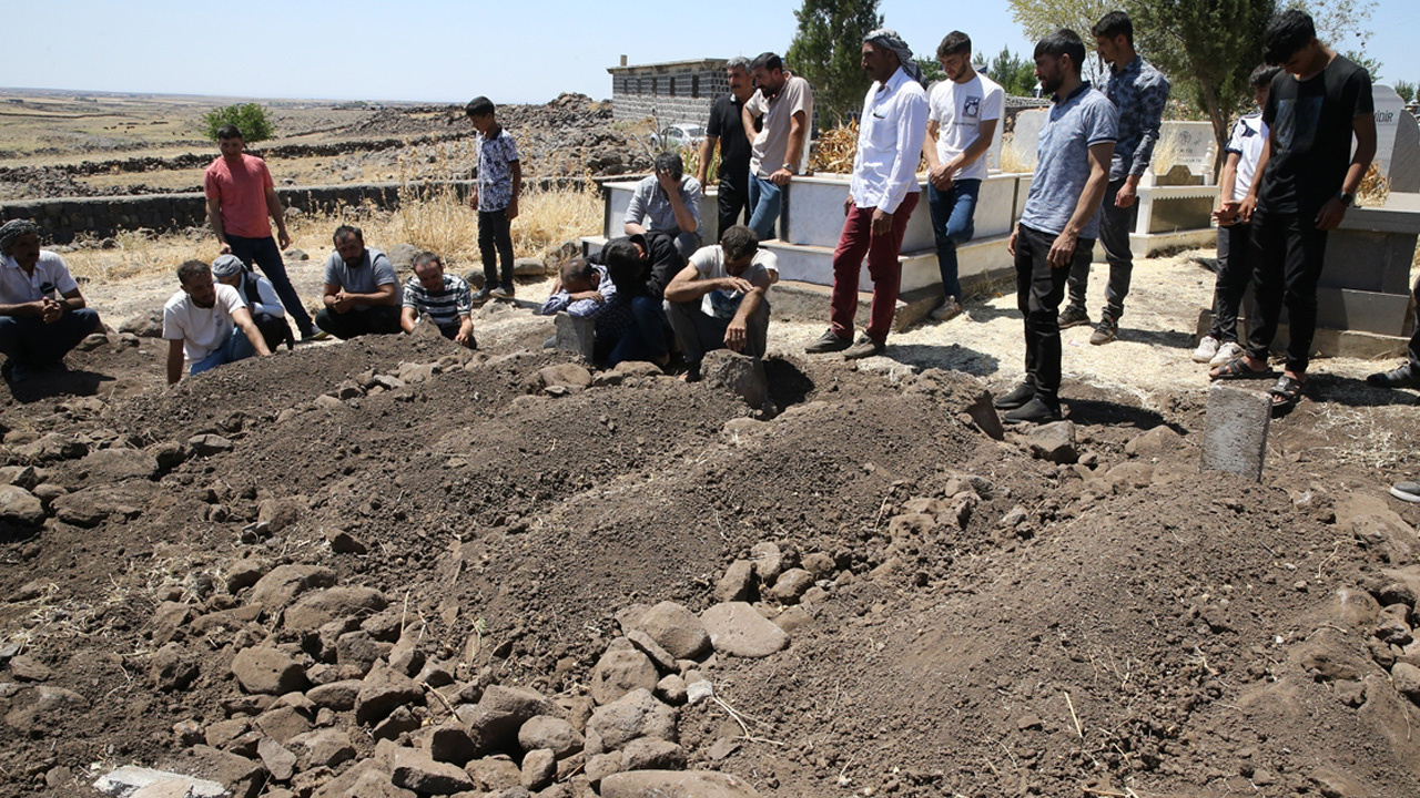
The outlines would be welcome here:
[[[528,185],[534,190],[581,187],[581,177],[545,177]],[[348,183],[341,186],[278,187],[281,204],[304,213],[332,212],[342,206],[371,203],[392,210],[405,196],[452,187],[460,199],[473,180],[430,180],[423,183]],[[68,197],[10,202],[0,207],[0,223],[30,219],[44,229],[44,241],[68,244],[81,236],[109,237],[121,230],[172,231],[207,226],[207,203],[202,192],[121,197]]]

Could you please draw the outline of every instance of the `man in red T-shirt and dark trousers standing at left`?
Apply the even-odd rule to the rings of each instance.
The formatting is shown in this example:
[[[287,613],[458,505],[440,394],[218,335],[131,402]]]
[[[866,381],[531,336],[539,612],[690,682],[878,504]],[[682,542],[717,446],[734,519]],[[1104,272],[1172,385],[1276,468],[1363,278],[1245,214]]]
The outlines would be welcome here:
[[[202,176],[203,192],[207,195],[207,223],[217,236],[219,253],[231,253],[248,267],[261,267],[281,297],[281,305],[295,319],[301,338],[322,338],[285,274],[281,250],[291,246],[291,234],[285,230],[285,209],[275,193],[271,172],[264,160],[243,152],[246,146],[236,125],[219,128],[217,148],[222,156]],[[271,239],[267,216],[275,220],[280,248]]]

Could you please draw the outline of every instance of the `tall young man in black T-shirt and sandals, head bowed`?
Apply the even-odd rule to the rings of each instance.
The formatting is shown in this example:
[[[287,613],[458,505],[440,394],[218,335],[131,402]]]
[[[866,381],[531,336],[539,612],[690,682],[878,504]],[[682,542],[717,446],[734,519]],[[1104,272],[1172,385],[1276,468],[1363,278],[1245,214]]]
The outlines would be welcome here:
[[[1269,136],[1258,159],[1260,179],[1238,212],[1242,222],[1252,220],[1258,314],[1248,319],[1247,354],[1210,376],[1268,376],[1267,352],[1287,305],[1287,366],[1269,390],[1272,409],[1285,412],[1306,382],[1326,231],[1346,216],[1376,155],[1376,116],[1370,75],[1318,41],[1305,13],[1272,17],[1265,40],[1267,62],[1282,72],[1262,109]]]

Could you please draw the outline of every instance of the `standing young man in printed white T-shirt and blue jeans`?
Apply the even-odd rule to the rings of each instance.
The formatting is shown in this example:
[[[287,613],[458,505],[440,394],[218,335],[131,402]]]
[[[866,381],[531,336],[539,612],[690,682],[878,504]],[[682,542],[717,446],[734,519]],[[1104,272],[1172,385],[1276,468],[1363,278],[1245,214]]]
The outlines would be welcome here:
[[[1005,91],[971,68],[971,37],[961,31],[941,40],[937,62],[947,80],[933,84],[927,94],[922,153],[927,158],[927,203],[943,291],[932,318],[946,321],[961,312],[957,247],[976,233],[971,220],[987,175],[984,155],[995,138]]]

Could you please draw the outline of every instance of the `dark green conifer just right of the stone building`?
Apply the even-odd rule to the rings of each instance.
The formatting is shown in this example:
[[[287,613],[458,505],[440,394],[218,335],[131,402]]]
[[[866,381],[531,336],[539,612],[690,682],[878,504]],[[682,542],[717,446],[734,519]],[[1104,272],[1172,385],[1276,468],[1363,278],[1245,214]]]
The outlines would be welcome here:
[[[883,24],[878,0],[804,0],[784,60],[814,87],[822,119],[841,124],[863,105],[872,81],[862,68],[863,35]]]

